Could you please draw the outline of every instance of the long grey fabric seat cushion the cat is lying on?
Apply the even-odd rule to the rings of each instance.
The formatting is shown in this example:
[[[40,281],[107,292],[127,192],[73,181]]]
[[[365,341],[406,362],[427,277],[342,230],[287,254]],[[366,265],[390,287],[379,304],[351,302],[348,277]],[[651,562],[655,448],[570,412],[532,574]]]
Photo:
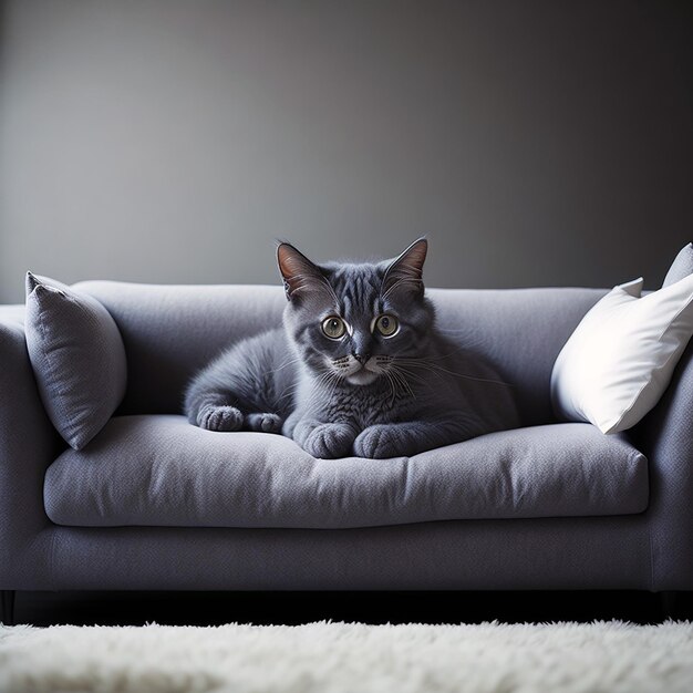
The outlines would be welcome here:
[[[348,528],[431,520],[640,513],[645,457],[569,423],[485,435],[392,459],[316,459],[267,433],[216,433],[183,416],[112,418],[49,467],[59,525]]]

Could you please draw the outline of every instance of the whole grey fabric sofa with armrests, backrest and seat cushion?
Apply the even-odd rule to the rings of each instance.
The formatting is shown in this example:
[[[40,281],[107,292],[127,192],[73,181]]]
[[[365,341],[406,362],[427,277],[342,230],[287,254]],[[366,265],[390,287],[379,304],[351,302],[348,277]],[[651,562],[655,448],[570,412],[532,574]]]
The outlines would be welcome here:
[[[597,289],[430,290],[451,339],[515,384],[523,428],[411,459],[313,459],[292,441],[180,415],[190,375],[279,322],[273,287],[76,288],[127,359],[83,449],[46,417],[23,307],[0,308],[0,589],[693,588],[693,363],[628,434],[556,421],[554,361]],[[6,612],[6,620],[11,613]]]

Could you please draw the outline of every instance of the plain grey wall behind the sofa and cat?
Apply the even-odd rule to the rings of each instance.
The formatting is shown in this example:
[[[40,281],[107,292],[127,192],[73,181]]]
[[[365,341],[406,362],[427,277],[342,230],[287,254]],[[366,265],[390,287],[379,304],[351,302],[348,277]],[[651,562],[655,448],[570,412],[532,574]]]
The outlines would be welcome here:
[[[685,4],[4,2],[0,301],[423,232],[430,285],[655,287],[693,235]]]

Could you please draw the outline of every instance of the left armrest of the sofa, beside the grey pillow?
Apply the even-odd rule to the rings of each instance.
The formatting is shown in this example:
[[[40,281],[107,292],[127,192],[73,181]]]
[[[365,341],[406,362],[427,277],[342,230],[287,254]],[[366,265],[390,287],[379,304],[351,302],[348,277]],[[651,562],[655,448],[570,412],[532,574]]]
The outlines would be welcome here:
[[[27,353],[23,307],[0,306],[0,589],[45,589],[45,468],[61,448]]]

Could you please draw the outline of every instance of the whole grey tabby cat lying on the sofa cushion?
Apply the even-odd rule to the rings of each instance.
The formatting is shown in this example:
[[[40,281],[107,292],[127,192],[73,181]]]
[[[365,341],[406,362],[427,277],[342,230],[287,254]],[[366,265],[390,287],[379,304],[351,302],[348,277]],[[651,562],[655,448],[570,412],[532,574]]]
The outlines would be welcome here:
[[[282,433],[322,458],[414,455],[518,426],[511,386],[436,331],[426,251],[422,238],[392,261],[314,265],[279,245],[283,328],[201,371],[189,422]]]

